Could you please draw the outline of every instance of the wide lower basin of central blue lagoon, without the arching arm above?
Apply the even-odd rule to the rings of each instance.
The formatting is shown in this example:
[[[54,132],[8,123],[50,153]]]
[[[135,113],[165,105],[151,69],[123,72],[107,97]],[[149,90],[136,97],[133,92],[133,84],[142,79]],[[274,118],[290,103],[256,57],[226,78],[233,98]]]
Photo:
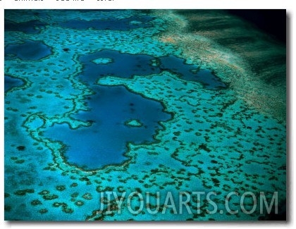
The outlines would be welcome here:
[[[72,116],[87,121],[89,127],[71,130],[66,124],[58,124],[44,135],[66,144],[63,154],[67,161],[87,170],[128,160],[124,156],[128,142],[154,142],[156,131],[162,129],[159,122],[171,118],[160,102],[131,93],[123,86],[96,89],[96,94],[87,98],[90,111]],[[127,125],[129,120],[137,120],[141,126]]]

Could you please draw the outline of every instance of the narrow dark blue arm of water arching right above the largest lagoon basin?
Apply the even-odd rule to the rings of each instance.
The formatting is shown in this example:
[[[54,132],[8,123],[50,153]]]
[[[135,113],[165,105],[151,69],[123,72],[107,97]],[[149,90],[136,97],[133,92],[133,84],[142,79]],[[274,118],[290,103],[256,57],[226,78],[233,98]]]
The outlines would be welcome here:
[[[108,58],[110,62],[106,64],[94,63],[94,60],[98,58]],[[84,77],[82,77],[85,82],[94,82],[94,80],[107,75],[131,78],[132,75],[151,75],[161,73],[162,70],[170,70],[183,80],[202,83],[206,89],[226,88],[226,85],[210,70],[202,70],[194,64],[186,64],[183,58],[173,55],[155,58],[144,54],[133,55],[103,50],[81,56],[80,61],[85,66]]]

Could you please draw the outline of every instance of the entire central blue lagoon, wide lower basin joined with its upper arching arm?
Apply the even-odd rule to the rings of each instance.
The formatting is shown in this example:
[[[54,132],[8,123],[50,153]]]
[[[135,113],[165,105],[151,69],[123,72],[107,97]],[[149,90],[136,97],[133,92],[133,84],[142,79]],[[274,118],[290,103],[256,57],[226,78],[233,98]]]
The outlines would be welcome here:
[[[64,151],[69,163],[86,170],[122,163],[127,143],[154,142],[154,135],[161,129],[159,121],[166,121],[171,114],[164,112],[159,101],[147,99],[130,92],[123,86],[101,86],[97,80],[109,75],[131,78],[132,75],[151,75],[171,70],[185,80],[202,82],[204,87],[217,89],[223,83],[211,72],[188,65],[176,56],[154,56],[123,54],[119,51],[103,50],[80,56],[82,73],[78,78],[85,82],[95,94],[85,99],[90,111],[80,111],[72,118],[84,120],[90,127],[71,130],[68,124],[56,124],[44,132],[44,136],[61,140],[66,144]],[[153,63],[153,64],[152,64]],[[138,120],[140,127],[126,125],[129,120]]]

